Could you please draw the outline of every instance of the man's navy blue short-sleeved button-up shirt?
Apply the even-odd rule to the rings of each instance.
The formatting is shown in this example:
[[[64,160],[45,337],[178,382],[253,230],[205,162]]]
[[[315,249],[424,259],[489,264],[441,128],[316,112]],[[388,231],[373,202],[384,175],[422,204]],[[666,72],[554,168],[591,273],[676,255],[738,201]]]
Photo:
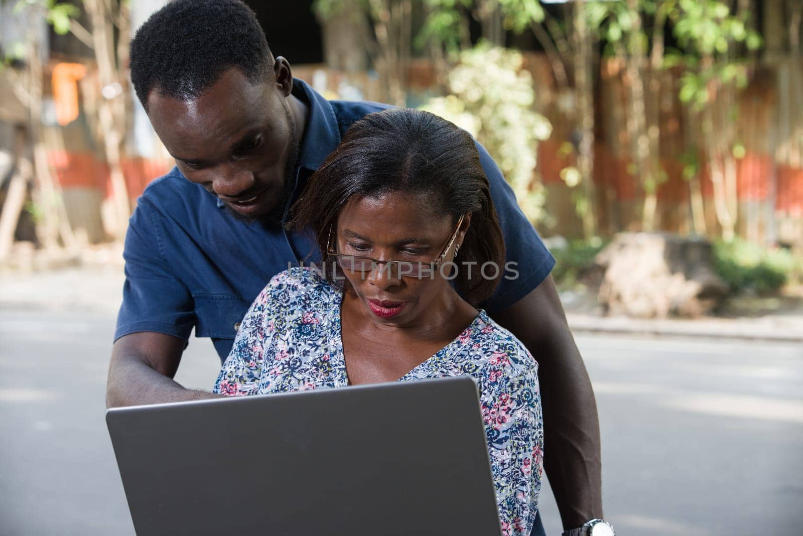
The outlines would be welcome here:
[[[310,175],[340,143],[340,136],[366,114],[388,108],[369,102],[329,101],[296,79],[293,94],[309,106],[300,145],[296,187],[285,213]],[[512,189],[485,148],[477,144],[491,183],[507,248],[519,276],[502,278],[481,303],[489,315],[524,298],[555,264],[516,204]],[[211,193],[173,168],[142,193],[125,237],[123,304],[115,340],[137,331],[156,331],[189,340],[209,337],[221,360],[229,355],[237,325],[267,282],[288,263],[316,261],[317,245],[305,233],[282,225],[234,218]]]

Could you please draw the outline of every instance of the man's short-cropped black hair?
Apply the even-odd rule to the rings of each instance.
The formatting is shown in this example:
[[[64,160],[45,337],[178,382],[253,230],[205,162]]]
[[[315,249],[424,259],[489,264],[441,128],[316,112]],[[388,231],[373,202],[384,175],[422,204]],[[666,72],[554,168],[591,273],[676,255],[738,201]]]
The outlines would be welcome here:
[[[272,73],[273,55],[254,11],[238,0],[175,0],[131,41],[131,82],[147,108],[154,89],[195,99],[236,67],[252,82]]]

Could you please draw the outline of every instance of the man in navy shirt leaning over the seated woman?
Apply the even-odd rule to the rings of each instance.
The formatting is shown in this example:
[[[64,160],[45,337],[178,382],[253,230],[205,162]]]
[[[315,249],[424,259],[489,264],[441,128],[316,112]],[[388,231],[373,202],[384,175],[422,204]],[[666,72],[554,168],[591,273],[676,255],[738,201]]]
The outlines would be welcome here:
[[[145,189],[129,222],[110,407],[213,396],[173,381],[190,331],[226,359],[267,281],[288,262],[315,260],[312,239],[284,229],[287,210],[346,129],[386,108],[330,102],[293,79],[235,0],[177,0],[153,14],[132,41],[131,77],[177,167]],[[602,515],[597,408],[549,277],[554,259],[478,148],[520,272],[481,307],[540,363],[544,460],[573,529]]]

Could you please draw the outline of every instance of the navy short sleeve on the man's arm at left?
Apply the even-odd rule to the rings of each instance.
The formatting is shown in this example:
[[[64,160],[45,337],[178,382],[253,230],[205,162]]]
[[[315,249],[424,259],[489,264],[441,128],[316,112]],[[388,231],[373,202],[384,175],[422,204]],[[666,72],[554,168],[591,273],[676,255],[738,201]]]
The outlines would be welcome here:
[[[160,231],[157,213],[141,198],[125,234],[125,283],[115,340],[138,331],[190,339],[195,324],[193,299],[165,262]]]

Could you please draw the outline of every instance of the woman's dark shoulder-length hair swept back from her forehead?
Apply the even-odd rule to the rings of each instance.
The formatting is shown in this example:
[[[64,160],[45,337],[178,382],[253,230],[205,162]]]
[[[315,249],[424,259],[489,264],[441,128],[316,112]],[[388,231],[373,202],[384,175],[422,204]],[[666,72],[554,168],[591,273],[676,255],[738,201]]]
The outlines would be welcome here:
[[[389,108],[353,124],[310,177],[289,226],[311,229],[330,266],[328,231],[346,203],[390,192],[428,194],[432,208],[450,215],[453,225],[471,213],[455,262],[477,264],[471,278],[468,270],[459,269],[454,284],[474,305],[489,298],[502,277],[505,249],[488,179],[471,135],[430,112]],[[495,278],[479,274],[486,262],[499,266]],[[332,270],[324,271],[332,281]]]

